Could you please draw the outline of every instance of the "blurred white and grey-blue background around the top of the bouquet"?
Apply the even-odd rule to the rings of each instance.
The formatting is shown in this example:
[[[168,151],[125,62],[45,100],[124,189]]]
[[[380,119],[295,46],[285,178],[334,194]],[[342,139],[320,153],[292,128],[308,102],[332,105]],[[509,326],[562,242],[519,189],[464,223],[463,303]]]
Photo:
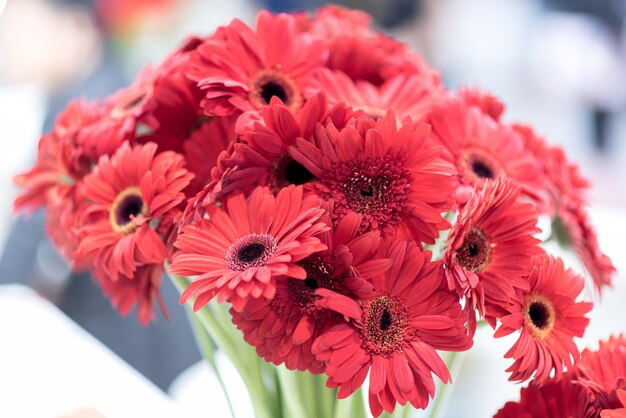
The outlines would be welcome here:
[[[114,92],[191,33],[208,34],[234,17],[251,23],[261,8],[313,10],[323,3],[0,0],[0,283],[28,284],[167,390],[200,359],[176,290],[164,281],[171,321],[159,318],[143,329],[133,317],[119,318],[89,277],[73,277],[56,255],[43,232],[43,213],[30,218],[12,214],[16,189],[11,176],[33,162],[39,136],[70,98]],[[507,120],[531,122],[551,143],[562,145],[592,180],[591,200],[600,208],[594,218],[602,222],[608,213],[621,220],[624,230],[626,1],[337,3],[372,14],[381,31],[406,42],[438,69],[448,87],[490,90],[506,103]],[[604,231],[616,234],[620,225],[616,228]],[[600,228],[601,243],[609,242],[607,235]],[[624,271],[616,242],[604,247]],[[623,318],[617,300],[615,309]],[[480,361],[470,361],[469,367],[480,367]],[[468,416],[454,409],[467,400],[459,396],[453,397],[450,417]]]

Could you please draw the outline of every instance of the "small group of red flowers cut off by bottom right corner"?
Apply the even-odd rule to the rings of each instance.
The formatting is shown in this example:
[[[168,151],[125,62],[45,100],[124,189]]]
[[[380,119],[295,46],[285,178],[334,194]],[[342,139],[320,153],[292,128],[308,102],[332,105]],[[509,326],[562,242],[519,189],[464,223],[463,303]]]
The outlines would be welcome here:
[[[585,350],[561,379],[531,382],[519,402],[508,402],[494,418],[626,418],[626,337]]]

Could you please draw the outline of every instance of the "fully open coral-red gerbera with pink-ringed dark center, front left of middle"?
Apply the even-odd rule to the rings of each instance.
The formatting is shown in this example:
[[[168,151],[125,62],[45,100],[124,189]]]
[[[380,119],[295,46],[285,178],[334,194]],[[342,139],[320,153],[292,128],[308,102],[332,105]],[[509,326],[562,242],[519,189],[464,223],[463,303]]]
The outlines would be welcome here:
[[[298,262],[325,250],[317,235],[328,227],[319,222],[324,210],[301,187],[282,189],[276,197],[266,187],[246,198],[231,194],[223,207],[207,208],[209,219],[185,225],[174,244],[178,249],[170,270],[198,276],[180,300],[197,297],[198,310],[218,295],[240,311],[250,298],[271,299],[278,279],[304,280]]]

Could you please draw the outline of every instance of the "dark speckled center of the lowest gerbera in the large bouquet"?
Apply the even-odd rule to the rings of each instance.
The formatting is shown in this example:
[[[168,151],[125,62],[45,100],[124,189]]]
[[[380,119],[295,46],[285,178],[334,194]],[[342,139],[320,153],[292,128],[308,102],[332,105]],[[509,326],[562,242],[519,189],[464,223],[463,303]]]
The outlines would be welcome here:
[[[379,296],[367,303],[361,334],[363,346],[370,353],[386,354],[400,348],[405,337],[410,336],[406,309],[401,301]]]

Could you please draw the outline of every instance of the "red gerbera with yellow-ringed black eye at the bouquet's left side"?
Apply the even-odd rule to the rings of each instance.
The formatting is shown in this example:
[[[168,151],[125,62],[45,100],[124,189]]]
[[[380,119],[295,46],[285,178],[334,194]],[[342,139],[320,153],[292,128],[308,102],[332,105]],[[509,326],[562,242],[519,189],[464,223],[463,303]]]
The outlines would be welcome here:
[[[153,143],[131,147],[123,143],[112,156],[104,156],[84,179],[84,198],[92,202],[80,230],[79,256],[93,256],[111,280],[132,277],[137,267],[161,265],[168,257],[163,229],[168,212],[183,201],[183,189],[192,174],[181,155],[156,155]],[[177,209],[176,209],[177,210]]]

